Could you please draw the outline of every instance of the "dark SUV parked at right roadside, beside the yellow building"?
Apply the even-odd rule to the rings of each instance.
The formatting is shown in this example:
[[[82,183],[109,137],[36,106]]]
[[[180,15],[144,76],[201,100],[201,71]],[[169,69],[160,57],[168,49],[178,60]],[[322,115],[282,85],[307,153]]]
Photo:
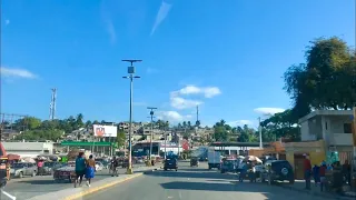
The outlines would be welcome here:
[[[294,170],[287,160],[267,160],[261,171],[261,181],[268,181],[271,184],[274,181],[295,182]]]

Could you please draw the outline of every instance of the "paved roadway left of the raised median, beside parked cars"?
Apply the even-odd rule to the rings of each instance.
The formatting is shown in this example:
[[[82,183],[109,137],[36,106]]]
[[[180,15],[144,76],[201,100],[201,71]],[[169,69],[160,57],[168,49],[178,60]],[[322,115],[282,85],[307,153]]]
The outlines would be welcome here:
[[[142,167],[142,164],[135,164],[134,168]],[[119,169],[119,173],[125,173],[126,169]],[[96,173],[95,179],[98,181],[110,177],[109,170],[102,170]],[[4,191],[11,196],[17,197],[17,200],[26,200],[36,196],[44,194],[48,192],[59,191],[67,188],[71,188],[73,184],[69,182],[55,182],[51,176],[32,177],[23,179],[12,179],[7,184]],[[1,200],[8,200],[9,198],[4,194],[0,194]],[[9,199],[10,200],[10,199]]]

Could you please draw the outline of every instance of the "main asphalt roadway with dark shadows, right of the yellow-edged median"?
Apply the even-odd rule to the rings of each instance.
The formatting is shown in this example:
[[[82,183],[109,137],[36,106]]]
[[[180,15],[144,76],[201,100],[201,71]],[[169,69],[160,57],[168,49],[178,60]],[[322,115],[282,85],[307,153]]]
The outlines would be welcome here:
[[[237,182],[235,174],[221,174],[180,162],[178,171],[154,171],[116,187],[86,196],[82,200],[322,200],[266,183]]]

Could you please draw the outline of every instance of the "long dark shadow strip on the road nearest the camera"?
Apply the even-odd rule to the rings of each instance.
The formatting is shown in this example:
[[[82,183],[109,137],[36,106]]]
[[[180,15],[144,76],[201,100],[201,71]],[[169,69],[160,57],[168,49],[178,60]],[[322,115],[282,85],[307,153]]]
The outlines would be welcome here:
[[[187,182],[187,181],[175,181],[161,183],[160,186],[168,190],[200,190],[200,191],[222,191],[222,192],[256,192],[261,193],[266,199],[271,199],[273,194],[268,188],[261,184],[249,183],[210,183],[210,182]]]

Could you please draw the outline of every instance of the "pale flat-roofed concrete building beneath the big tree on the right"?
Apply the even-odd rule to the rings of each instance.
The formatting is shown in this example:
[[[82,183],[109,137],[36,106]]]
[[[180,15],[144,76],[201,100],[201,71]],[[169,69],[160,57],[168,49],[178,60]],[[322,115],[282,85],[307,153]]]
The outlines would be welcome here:
[[[301,141],[324,140],[329,150],[352,151],[352,110],[317,110],[299,119]]]

